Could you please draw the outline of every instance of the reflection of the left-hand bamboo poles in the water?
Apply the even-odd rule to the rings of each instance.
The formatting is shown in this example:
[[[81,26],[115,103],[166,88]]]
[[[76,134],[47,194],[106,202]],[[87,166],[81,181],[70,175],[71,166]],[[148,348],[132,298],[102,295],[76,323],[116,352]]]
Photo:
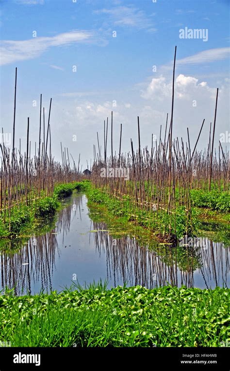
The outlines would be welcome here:
[[[72,200],[80,210],[82,196],[73,196]],[[68,233],[71,225],[71,210],[72,203],[58,213],[55,229],[44,235],[31,237],[28,243],[15,254],[4,251],[1,253],[2,287],[15,287],[15,294],[20,295],[26,290],[31,293],[32,283],[40,281],[42,290],[52,289],[56,251],[59,254],[56,234],[62,232],[64,236]]]

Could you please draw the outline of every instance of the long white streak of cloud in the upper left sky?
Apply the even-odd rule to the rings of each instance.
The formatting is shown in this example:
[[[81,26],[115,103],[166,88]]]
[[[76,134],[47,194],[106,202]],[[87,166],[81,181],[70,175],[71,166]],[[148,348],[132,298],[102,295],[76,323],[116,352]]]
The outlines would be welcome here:
[[[51,47],[62,47],[93,40],[93,32],[71,31],[52,37],[34,37],[29,40],[3,40],[0,43],[0,64],[33,59]]]

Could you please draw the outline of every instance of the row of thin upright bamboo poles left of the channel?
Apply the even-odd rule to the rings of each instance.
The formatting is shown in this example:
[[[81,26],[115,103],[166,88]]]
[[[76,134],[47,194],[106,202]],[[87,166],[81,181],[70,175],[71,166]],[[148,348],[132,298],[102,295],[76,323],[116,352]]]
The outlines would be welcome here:
[[[32,142],[30,137],[30,118],[27,121],[26,151],[15,147],[16,132],[16,81],[15,77],[15,99],[14,99],[14,124],[13,124],[13,146],[12,150],[4,142],[2,128],[2,140],[0,141],[0,216],[5,222],[11,220],[12,206],[35,205],[41,197],[51,195],[54,185],[67,183],[81,178],[80,155],[78,166],[68,148],[62,147],[62,163],[54,160],[51,154],[51,129],[50,112],[52,98],[49,104],[48,120],[45,117],[45,107],[42,107],[42,94],[40,95],[40,118],[38,145],[35,142],[35,151],[32,154]],[[47,123],[46,123],[47,121]]]

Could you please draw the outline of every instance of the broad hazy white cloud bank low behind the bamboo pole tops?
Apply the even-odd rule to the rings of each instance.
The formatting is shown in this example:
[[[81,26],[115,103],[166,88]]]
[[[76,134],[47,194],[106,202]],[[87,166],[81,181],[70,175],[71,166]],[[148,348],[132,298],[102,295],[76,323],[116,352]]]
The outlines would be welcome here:
[[[229,85],[228,79],[219,85],[219,97],[216,118],[216,137],[215,145],[218,146],[219,134],[229,128]],[[147,88],[147,87],[146,87]],[[160,126],[164,133],[166,115],[169,114],[170,122],[171,112],[171,93],[172,86],[170,79],[161,77],[160,81],[153,83],[156,93],[147,100],[140,99],[139,91],[133,94],[120,96],[117,107],[113,107],[112,99],[108,100],[108,91],[103,94],[96,92],[95,96],[90,98],[87,95],[93,92],[72,92],[62,93],[60,97],[54,97],[51,109],[51,136],[52,136],[52,154],[55,159],[60,160],[60,141],[63,147],[67,146],[74,159],[81,153],[81,162],[90,161],[93,156],[93,145],[97,145],[97,131],[99,133],[99,143],[103,152],[103,130],[104,120],[109,118],[108,138],[111,135],[111,111],[114,113],[114,151],[119,150],[120,124],[122,123],[122,151],[128,153],[131,150],[130,137],[133,140],[134,148],[138,147],[137,116],[140,118],[141,146],[148,145],[151,148],[151,134],[157,136],[159,142]],[[166,89],[166,93],[165,93]],[[137,91],[136,91],[137,92]],[[189,128],[191,148],[195,145],[200,125],[205,118],[204,128],[198,142],[199,149],[207,146],[209,141],[209,125],[214,119],[216,89],[208,86],[204,79],[197,79],[195,76],[176,75],[175,81],[175,102],[174,102],[174,128],[173,134],[177,138],[187,138],[187,127]],[[181,95],[179,95],[181,94]],[[62,98],[62,96],[67,98]],[[82,98],[81,98],[82,96]],[[72,97],[72,99],[71,99]],[[75,98],[76,97],[76,98]],[[161,98],[161,99],[159,99]],[[197,106],[193,106],[193,100],[197,101]],[[127,108],[131,104],[131,109]],[[9,102],[2,107],[2,122],[6,123],[5,132],[10,132],[11,124],[8,120],[10,110]],[[45,117],[48,118],[49,101],[47,104],[48,112]],[[31,132],[33,138],[38,138],[39,125],[39,105],[31,108],[31,103],[18,105],[17,122],[26,122],[27,115],[31,118]],[[17,138],[22,138],[22,145],[26,145],[25,125],[17,126]],[[72,136],[77,135],[77,142],[72,140]],[[163,136],[164,134],[162,134]],[[33,140],[32,140],[33,141]],[[16,146],[19,143],[17,141]],[[108,140],[108,153],[111,152],[110,140]]]

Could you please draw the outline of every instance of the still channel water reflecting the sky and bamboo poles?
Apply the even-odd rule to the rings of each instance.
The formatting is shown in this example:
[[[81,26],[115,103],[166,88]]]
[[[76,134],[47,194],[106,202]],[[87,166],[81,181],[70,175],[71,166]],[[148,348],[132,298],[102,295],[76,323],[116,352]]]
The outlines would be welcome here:
[[[80,284],[107,279],[109,286],[124,282],[149,288],[167,283],[200,288],[229,285],[229,248],[220,243],[208,241],[206,249],[197,251],[201,253],[198,268],[181,272],[179,259],[175,267],[169,256],[165,262],[154,251],[138,246],[135,239],[124,236],[115,240],[103,231],[104,223],[93,223],[85,195],[75,194],[64,202],[70,200],[59,212],[55,230],[31,238],[16,254],[1,253],[1,288],[16,286],[16,294],[22,288],[32,294],[50,288],[60,291],[75,277]],[[91,230],[100,231],[89,233]],[[185,257],[183,266],[186,261]]]

